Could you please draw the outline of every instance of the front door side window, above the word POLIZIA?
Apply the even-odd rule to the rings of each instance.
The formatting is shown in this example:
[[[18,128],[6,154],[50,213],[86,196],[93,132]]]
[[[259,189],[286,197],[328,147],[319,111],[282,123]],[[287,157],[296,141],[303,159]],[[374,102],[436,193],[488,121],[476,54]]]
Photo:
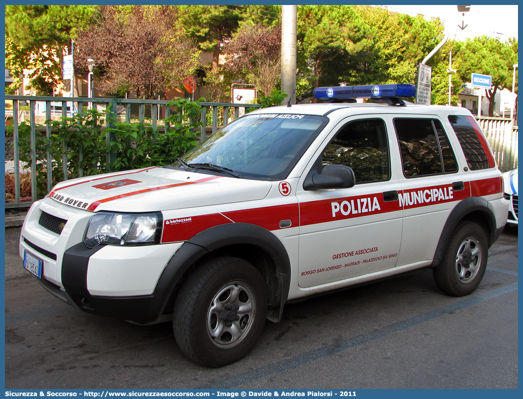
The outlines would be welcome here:
[[[323,165],[345,165],[354,170],[356,183],[390,178],[385,123],[362,119],[343,126],[322,154]]]

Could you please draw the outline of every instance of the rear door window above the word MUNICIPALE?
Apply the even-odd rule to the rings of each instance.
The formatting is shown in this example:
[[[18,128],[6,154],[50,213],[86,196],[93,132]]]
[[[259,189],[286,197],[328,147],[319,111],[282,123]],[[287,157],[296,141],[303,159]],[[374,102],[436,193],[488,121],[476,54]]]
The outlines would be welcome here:
[[[400,144],[405,177],[458,170],[449,140],[438,120],[396,118],[394,128]]]

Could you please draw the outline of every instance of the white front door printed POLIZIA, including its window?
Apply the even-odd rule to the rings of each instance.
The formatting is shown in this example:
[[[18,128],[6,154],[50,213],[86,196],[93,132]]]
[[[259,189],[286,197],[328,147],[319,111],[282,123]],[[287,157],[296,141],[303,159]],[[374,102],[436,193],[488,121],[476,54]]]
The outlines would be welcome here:
[[[356,185],[305,191],[300,204],[299,285],[311,287],[396,265],[402,235],[394,151],[381,116],[347,118],[321,151],[323,165],[346,165]]]

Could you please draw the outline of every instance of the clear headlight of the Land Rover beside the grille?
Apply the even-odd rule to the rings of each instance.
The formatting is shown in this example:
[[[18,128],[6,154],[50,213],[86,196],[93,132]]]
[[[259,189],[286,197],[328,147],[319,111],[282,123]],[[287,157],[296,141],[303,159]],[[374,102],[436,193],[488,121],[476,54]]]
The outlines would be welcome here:
[[[147,245],[160,241],[162,214],[113,214],[100,212],[90,218],[84,243],[89,248],[99,244]]]

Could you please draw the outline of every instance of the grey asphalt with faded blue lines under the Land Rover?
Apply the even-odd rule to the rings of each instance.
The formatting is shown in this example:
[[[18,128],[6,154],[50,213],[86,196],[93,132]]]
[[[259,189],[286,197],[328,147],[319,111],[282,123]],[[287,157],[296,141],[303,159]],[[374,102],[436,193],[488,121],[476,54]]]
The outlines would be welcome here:
[[[218,369],[183,356],[170,323],[75,310],[22,269],[6,228],[7,389],[516,389],[518,233],[506,228],[470,296],[424,269],[288,304],[251,353]]]

